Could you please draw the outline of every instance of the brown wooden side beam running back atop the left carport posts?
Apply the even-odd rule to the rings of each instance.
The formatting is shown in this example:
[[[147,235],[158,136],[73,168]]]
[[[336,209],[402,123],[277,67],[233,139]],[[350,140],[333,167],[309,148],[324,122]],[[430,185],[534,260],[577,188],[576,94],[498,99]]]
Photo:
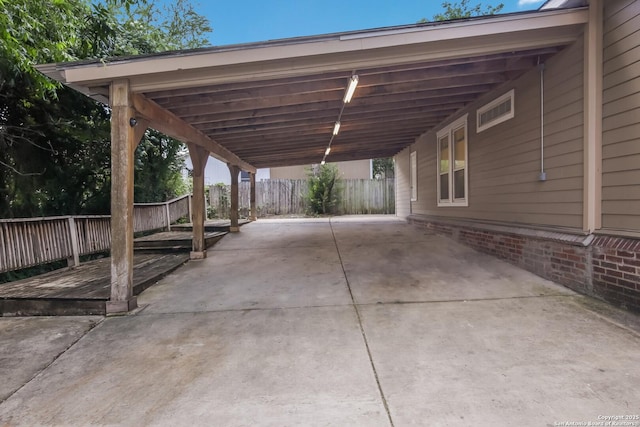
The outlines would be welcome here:
[[[161,108],[153,101],[140,94],[133,95],[133,105],[144,118],[150,120],[150,126],[159,132],[179,139],[183,142],[191,142],[209,151],[211,155],[221,161],[238,166],[242,170],[255,172],[256,168],[245,162],[231,151],[224,148],[204,133],[186,123],[175,114]]]

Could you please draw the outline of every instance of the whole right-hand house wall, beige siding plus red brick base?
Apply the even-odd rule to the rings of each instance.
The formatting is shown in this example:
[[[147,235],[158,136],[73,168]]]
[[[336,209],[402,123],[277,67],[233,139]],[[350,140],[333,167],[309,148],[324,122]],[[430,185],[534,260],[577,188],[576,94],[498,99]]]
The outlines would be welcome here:
[[[469,206],[437,207],[439,129],[421,136],[398,162],[396,176],[405,177],[407,190],[397,206],[409,200],[408,153],[415,150],[418,200],[410,223],[640,312],[640,0],[603,4],[602,230],[582,231],[582,40],[546,63],[546,182],[538,180],[539,73],[532,70],[451,118],[469,114]],[[511,88],[515,117],[476,133],[475,110]]]

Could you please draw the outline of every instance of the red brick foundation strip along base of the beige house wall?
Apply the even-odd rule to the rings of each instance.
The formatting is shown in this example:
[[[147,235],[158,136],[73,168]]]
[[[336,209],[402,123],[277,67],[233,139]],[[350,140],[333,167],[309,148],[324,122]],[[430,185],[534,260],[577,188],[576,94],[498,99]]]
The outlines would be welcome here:
[[[410,216],[408,221],[576,292],[640,312],[638,239],[597,236],[585,246],[418,216]]]

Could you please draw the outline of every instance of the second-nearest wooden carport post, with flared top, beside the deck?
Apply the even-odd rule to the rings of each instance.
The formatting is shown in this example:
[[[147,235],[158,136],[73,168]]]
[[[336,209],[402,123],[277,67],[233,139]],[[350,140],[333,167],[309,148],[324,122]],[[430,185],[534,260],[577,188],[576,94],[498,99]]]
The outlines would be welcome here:
[[[191,259],[204,259],[207,257],[207,247],[204,240],[204,168],[209,159],[209,152],[199,145],[188,143],[191,164],[193,165],[193,246]]]

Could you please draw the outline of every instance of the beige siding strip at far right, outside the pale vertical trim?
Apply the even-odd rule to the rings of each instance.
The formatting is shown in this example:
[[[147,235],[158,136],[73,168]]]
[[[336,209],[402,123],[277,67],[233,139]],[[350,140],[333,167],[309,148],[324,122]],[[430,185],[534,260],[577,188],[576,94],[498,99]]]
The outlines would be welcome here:
[[[602,226],[640,230],[640,1],[604,6]]]

